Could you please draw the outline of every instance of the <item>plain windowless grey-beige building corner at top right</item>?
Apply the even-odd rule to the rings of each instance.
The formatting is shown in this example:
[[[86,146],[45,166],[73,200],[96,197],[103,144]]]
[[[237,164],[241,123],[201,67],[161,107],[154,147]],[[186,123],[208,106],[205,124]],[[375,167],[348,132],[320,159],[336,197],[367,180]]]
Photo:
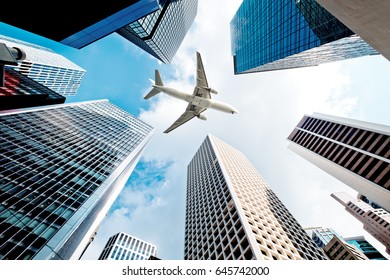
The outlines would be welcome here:
[[[390,3],[382,0],[316,0],[390,60]]]

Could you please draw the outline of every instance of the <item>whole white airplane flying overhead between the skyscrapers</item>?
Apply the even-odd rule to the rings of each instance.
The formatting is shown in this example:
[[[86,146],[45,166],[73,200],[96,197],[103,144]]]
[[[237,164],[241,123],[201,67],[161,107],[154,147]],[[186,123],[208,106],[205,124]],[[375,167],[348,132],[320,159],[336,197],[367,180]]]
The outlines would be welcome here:
[[[218,92],[215,89],[210,88],[207,83],[206,73],[199,52],[196,52],[196,62],[196,85],[193,94],[184,93],[174,88],[164,86],[160,73],[157,69],[155,70],[155,81],[152,81],[154,82],[152,85],[153,88],[145,95],[144,99],[149,99],[156,94],[163,92],[169,96],[188,102],[185,112],[168,129],[166,129],[164,133],[171,132],[194,117],[198,117],[201,120],[207,120],[207,117],[202,113],[209,108],[230,114],[239,113],[233,106],[211,99],[210,93],[217,94]]]

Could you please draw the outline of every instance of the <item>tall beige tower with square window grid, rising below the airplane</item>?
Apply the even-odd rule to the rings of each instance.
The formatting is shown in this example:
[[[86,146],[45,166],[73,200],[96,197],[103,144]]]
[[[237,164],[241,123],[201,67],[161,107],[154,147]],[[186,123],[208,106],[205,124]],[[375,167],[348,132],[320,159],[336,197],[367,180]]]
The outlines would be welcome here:
[[[208,135],[188,165],[184,259],[324,259],[255,167]]]

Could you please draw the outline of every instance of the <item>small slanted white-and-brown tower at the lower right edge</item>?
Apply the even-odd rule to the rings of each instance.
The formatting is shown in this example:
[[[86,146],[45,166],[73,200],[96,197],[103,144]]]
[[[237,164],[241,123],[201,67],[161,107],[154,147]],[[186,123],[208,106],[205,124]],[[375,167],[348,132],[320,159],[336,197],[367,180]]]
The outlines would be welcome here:
[[[345,210],[363,223],[363,228],[386,246],[390,254],[390,213],[382,208],[375,209],[369,204],[354,199],[344,192],[332,193],[331,196],[345,206]]]

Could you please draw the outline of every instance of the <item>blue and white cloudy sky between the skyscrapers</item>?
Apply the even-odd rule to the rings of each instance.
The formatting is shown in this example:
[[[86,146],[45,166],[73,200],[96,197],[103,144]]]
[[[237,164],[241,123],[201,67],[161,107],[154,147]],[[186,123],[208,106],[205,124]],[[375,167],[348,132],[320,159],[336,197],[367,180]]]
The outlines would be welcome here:
[[[184,256],[187,165],[208,134],[240,150],[302,227],[330,227],[343,237],[363,235],[383,255],[385,247],[330,197],[356,192],[287,148],[286,138],[303,115],[319,112],[390,124],[390,62],[381,55],[320,66],[244,75],[233,74],[230,21],[241,0],[199,0],[198,14],[171,64],[162,64],[117,34],[76,50],[0,23],[0,34],[51,48],[87,72],[67,103],[110,102],[155,130],[143,157],[115,201],[83,259],[99,257],[119,231],[157,246],[157,256]],[[223,9],[221,9],[223,4]],[[196,51],[202,55],[212,98],[240,114],[207,110],[169,134],[187,103],[159,94],[149,100],[149,79],[160,71],[164,85],[192,93]]]

